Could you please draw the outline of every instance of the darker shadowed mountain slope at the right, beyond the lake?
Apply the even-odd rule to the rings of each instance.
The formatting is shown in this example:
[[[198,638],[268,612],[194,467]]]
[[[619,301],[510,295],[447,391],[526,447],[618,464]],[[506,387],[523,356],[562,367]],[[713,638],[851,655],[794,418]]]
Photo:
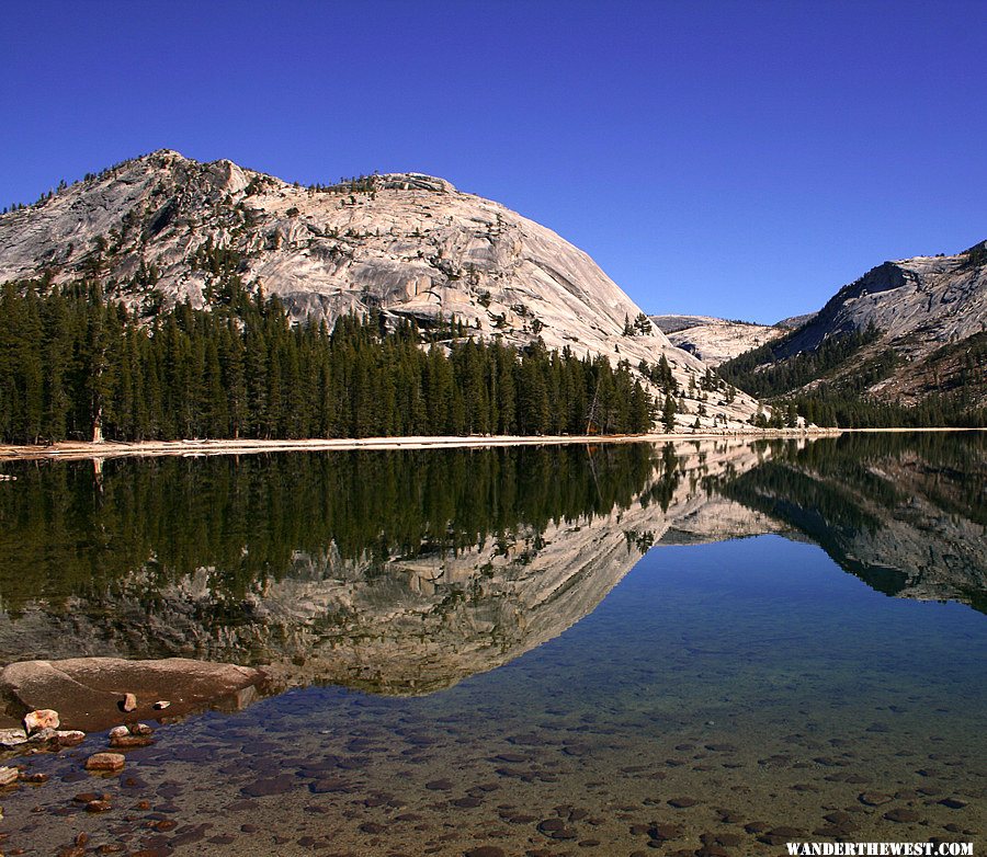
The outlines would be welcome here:
[[[756,396],[920,405],[932,422],[976,421],[987,405],[987,242],[885,262],[719,372]]]

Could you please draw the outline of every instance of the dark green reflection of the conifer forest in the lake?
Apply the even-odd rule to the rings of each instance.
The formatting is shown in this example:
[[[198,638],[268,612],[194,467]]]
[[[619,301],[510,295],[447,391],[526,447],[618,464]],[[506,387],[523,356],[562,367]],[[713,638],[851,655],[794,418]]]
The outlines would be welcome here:
[[[552,524],[629,509],[649,483],[667,505],[674,456],[654,477],[669,455],[627,444],[166,457],[111,459],[99,476],[90,461],[5,464],[18,481],[0,491],[0,590],[8,610],[43,598],[57,612],[114,586],[152,601],[205,570],[209,604],[242,620],[245,595],[292,574],[299,555],[373,573],[490,540],[536,550]]]

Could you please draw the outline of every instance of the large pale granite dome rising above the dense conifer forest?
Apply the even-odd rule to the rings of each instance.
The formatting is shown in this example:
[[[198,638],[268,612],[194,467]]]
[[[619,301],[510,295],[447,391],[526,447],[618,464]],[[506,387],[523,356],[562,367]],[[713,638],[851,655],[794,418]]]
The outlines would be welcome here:
[[[218,251],[222,250],[222,262]],[[219,268],[223,268],[220,271]],[[582,251],[498,203],[419,173],[302,187],[230,161],[158,151],[0,216],[0,282],[98,276],[134,307],[207,306],[230,275],[277,295],[295,319],[379,310],[428,327],[455,316],[472,335],[657,363],[679,385],[705,366],[640,325],[642,310]],[[744,393],[704,402],[703,427],[746,424]],[[687,401],[681,426],[699,402]]]

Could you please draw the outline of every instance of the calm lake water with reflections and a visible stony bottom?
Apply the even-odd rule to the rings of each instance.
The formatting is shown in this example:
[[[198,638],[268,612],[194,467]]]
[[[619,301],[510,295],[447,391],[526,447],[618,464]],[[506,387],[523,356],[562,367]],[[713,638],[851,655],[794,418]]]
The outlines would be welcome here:
[[[985,844],[984,434],[2,470],[2,663],[270,675],[14,759],[4,854]]]

